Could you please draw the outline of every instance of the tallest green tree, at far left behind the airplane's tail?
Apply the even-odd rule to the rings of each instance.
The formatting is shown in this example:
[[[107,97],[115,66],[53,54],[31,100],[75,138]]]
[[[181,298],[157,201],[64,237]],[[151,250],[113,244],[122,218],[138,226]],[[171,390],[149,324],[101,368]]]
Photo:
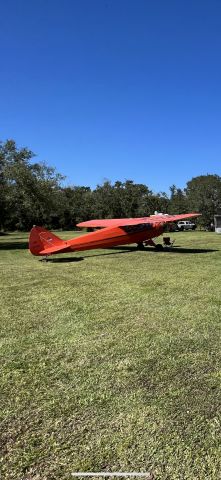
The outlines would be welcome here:
[[[2,228],[51,225],[61,208],[63,177],[44,163],[32,163],[33,158],[31,150],[19,149],[14,140],[0,144]]]

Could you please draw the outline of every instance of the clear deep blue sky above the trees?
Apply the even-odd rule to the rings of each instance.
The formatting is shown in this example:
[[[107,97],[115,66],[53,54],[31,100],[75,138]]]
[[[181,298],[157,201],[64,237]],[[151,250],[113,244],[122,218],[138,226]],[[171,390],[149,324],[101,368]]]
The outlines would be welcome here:
[[[219,0],[5,0],[0,50],[0,138],[68,184],[221,175]]]

